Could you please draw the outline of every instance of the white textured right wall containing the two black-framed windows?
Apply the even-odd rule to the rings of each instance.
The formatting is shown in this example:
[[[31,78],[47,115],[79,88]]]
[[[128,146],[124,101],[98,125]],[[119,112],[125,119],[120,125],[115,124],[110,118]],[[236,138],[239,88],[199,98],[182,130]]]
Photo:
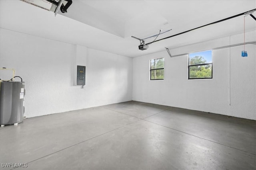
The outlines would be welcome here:
[[[172,55],[242,43],[244,35],[232,35],[171,49]],[[246,42],[256,41],[256,31]],[[153,45],[153,44],[152,44]],[[168,46],[168,45],[166,45]],[[247,119],[256,119],[256,46],[246,45],[212,52],[213,78],[188,80],[187,55],[170,58],[166,51],[133,59],[133,96],[140,102],[181,107]],[[164,57],[164,80],[149,80],[150,59]]]

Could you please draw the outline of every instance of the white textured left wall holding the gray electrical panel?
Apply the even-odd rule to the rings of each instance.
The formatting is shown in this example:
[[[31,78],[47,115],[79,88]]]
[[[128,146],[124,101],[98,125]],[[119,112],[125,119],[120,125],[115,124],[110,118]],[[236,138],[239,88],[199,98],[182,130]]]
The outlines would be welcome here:
[[[132,100],[129,57],[87,48],[82,88],[74,86],[76,45],[2,28],[0,37],[0,67],[14,68],[25,82],[26,117]]]

